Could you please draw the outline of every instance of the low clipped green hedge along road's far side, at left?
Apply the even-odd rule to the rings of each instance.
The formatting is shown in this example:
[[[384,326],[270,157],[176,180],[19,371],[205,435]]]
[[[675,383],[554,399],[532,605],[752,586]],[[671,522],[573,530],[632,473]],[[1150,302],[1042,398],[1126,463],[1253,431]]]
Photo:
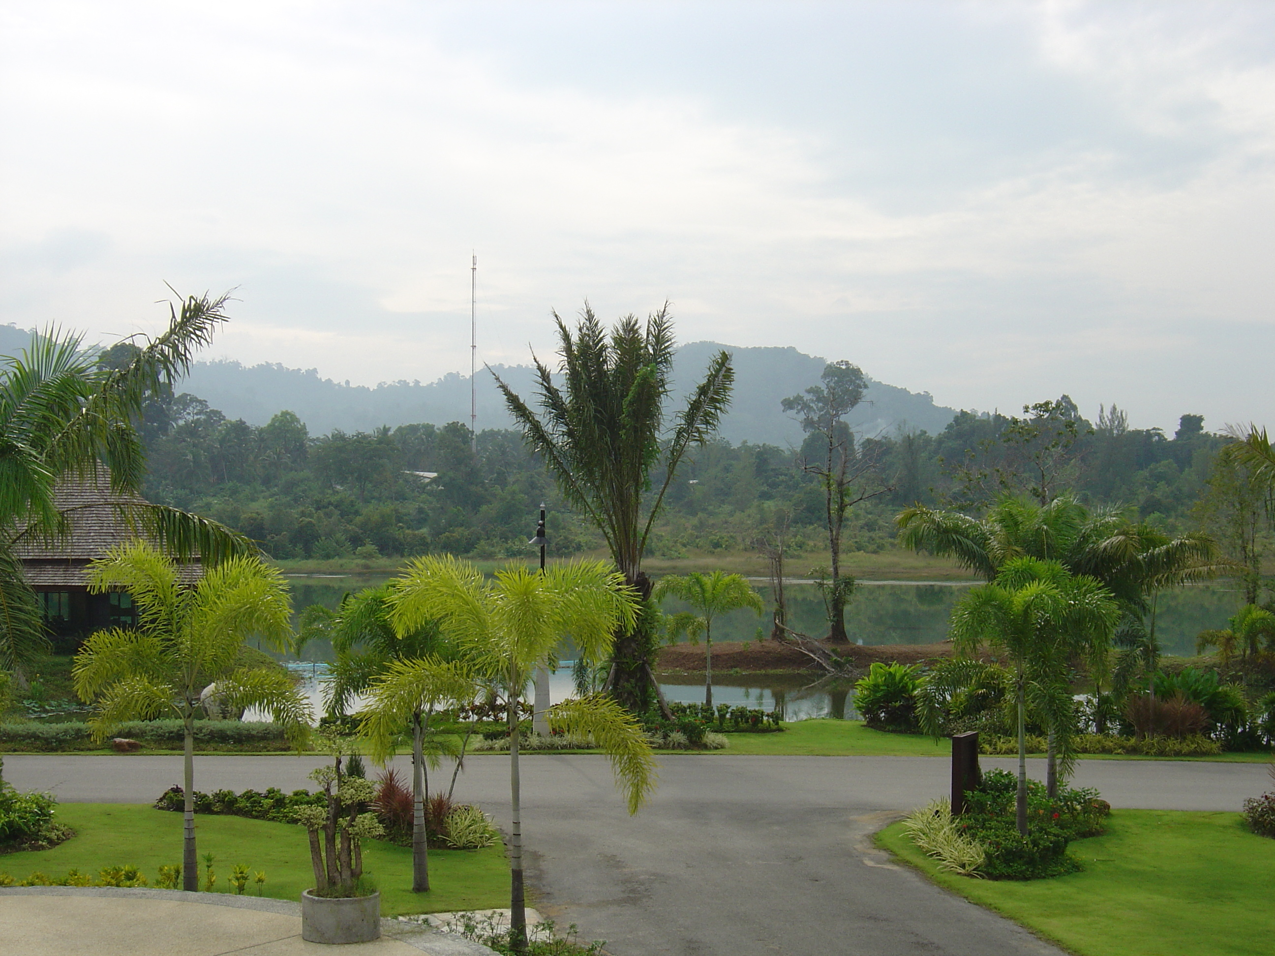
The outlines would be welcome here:
[[[133,720],[120,724],[111,737],[140,741],[156,750],[181,750],[184,727],[180,720]],[[57,751],[88,751],[110,747],[93,741],[88,724],[40,724],[32,720],[0,724],[0,751],[10,753],[48,753]],[[196,720],[195,748],[287,751],[291,744],[283,728],[274,723],[256,720]]]

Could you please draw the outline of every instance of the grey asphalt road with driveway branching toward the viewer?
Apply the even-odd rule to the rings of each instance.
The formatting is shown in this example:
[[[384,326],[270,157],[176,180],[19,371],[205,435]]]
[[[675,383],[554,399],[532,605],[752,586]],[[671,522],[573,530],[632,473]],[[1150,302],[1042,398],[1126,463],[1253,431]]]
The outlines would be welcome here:
[[[196,786],[293,789],[317,762],[199,757]],[[947,774],[928,757],[667,757],[659,790],[630,817],[604,757],[527,757],[537,905],[616,956],[1060,953],[872,848],[872,832],[941,795]],[[5,758],[13,784],[64,800],[152,800],[180,775],[180,757]],[[1269,778],[1253,764],[1081,761],[1075,783],[1117,807],[1237,809]],[[467,761],[458,799],[507,822],[507,757]]]

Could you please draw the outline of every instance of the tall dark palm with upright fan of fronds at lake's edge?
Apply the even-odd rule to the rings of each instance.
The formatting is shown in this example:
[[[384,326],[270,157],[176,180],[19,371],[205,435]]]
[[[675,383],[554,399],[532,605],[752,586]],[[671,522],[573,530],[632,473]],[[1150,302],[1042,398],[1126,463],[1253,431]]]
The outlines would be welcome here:
[[[731,402],[734,370],[719,352],[686,405],[672,417],[664,409],[671,391],[673,325],[666,303],[648,317],[621,319],[609,335],[585,303],[575,333],[555,312],[562,387],[553,371],[536,358],[541,414],[496,376],[527,444],[552,473],[562,495],[607,539],[625,583],[644,602],[650,581],[641,571],[652,525],[677,467],[692,445],[717,431]],[[534,358],[534,357],[533,357]],[[652,474],[663,472],[654,495]],[[655,628],[648,613],[618,635],[607,690],[635,713],[659,697],[652,673]],[[666,707],[667,710],[667,707]]]

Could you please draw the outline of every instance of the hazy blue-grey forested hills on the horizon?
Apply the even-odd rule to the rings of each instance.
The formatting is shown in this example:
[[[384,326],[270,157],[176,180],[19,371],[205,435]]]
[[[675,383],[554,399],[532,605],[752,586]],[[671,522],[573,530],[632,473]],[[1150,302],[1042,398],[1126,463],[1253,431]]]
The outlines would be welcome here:
[[[816,385],[825,359],[794,348],[734,348],[695,342],[677,353],[676,387],[692,387],[710,354],[722,348],[734,354],[736,368],[734,400],[722,426],[722,437],[734,444],[799,445],[801,427],[783,414],[779,403]],[[529,366],[497,366],[495,371],[520,395],[533,396]],[[277,412],[295,412],[312,435],[333,428],[371,431],[382,424],[469,423],[469,377],[458,373],[425,385],[399,381],[367,387],[321,379],[314,368],[199,362],[181,390],[198,395],[228,418],[242,418],[255,426],[265,424]],[[915,394],[872,381],[852,426],[861,435],[892,432],[899,424],[933,435],[941,432],[955,414],[955,409],[936,405],[928,393]],[[507,428],[511,424],[491,375],[481,371],[478,428]]]

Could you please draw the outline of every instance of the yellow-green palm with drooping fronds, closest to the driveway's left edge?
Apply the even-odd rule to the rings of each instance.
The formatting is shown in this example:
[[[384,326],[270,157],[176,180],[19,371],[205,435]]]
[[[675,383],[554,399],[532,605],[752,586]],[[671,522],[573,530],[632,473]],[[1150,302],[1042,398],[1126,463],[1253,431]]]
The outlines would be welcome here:
[[[510,565],[484,580],[472,565],[451,557],[413,561],[398,580],[390,619],[398,632],[411,632],[436,619],[442,632],[467,653],[472,676],[499,683],[506,705],[510,753],[510,911],[515,947],[527,945],[523,891],[523,829],[519,783],[518,702],[537,667],[548,662],[564,636],[593,659],[611,646],[616,628],[632,627],[636,598],[623,579],[595,561],[575,561],[544,572]],[[446,668],[446,669],[445,669]],[[374,752],[384,753],[388,734],[409,701],[431,693],[459,699],[472,693],[454,683],[463,665],[436,660],[395,664],[393,676],[374,683],[363,711],[362,732]],[[638,812],[654,788],[654,760],[641,727],[613,699],[602,695],[552,707],[550,727],[592,734],[611,755],[617,781]]]

